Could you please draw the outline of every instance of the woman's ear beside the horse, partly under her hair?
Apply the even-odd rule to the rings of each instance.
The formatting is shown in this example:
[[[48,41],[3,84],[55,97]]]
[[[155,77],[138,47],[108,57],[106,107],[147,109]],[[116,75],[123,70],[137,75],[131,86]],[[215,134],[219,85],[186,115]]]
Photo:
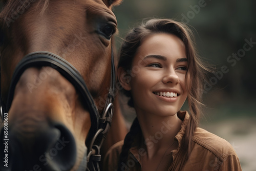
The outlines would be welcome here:
[[[117,69],[117,77],[124,90],[130,91],[132,89],[130,84],[131,76],[122,67]]]

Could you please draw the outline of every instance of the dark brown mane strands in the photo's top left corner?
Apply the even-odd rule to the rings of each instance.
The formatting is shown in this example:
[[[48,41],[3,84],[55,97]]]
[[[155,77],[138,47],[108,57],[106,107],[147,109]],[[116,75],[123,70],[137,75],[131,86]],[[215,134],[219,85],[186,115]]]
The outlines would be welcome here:
[[[50,0],[9,0],[3,1],[3,7],[0,12],[0,24],[2,27],[9,27],[10,23],[13,23],[20,15],[22,15],[26,10],[31,8],[31,5],[37,3],[36,8],[40,4],[43,4],[40,8],[40,14],[44,13],[47,9]]]

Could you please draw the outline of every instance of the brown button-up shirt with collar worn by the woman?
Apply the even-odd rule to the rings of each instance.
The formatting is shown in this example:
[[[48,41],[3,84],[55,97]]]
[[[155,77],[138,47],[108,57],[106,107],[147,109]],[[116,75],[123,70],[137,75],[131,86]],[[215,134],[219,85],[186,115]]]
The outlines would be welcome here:
[[[201,128],[197,128],[193,138],[193,148],[187,162],[180,167],[176,160],[177,153],[180,149],[180,142],[185,133],[186,125],[189,119],[187,112],[179,113],[179,118],[183,120],[181,130],[176,135],[179,147],[168,152],[172,154],[172,161],[169,163],[169,169],[172,171],[189,170],[189,171],[240,171],[241,165],[233,147],[224,139],[211,134]],[[119,154],[121,153],[123,141],[114,144],[104,159],[104,171],[114,171],[117,169]],[[129,156],[126,163],[122,164],[122,170],[139,171],[141,170],[140,156],[144,153],[142,148],[130,148]],[[150,170],[149,170],[150,171]]]

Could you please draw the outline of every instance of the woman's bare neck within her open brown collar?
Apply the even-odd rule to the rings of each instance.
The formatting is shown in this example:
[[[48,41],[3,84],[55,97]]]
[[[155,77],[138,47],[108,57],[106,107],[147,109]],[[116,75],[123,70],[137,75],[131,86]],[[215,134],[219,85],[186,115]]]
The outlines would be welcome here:
[[[174,143],[175,136],[181,129],[182,120],[177,114],[159,116],[137,113],[137,117],[145,140],[148,158],[166,151],[170,144]]]

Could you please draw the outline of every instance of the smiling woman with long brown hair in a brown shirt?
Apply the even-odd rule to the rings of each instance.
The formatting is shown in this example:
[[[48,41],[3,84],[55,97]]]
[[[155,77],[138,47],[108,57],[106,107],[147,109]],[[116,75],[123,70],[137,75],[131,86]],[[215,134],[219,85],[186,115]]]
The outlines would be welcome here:
[[[198,127],[208,70],[193,42],[172,19],[148,20],[127,35],[117,75],[137,118],[104,170],[241,170],[232,146]],[[190,111],[182,112],[186,99]]]

